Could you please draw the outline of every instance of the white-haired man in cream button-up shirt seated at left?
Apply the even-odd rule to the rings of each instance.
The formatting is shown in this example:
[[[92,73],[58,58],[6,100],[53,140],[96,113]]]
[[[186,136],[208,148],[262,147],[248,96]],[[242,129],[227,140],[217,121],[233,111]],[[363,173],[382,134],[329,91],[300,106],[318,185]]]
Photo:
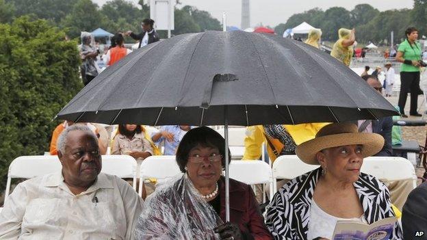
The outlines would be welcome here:
[[[132,239],[142,200],[101,172],[93,131],[75,124],[57,140],[62,171],[20,183],[0,213],[0,239]]]

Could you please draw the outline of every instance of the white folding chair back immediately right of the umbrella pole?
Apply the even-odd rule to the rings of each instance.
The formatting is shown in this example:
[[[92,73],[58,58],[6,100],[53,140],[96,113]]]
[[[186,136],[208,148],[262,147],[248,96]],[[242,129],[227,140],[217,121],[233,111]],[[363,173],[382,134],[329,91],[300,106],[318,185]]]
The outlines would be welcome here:
[[[264,161],[231,161],[229,176],[248,185],[262,184],[265,187],[268,184],[270,189],[273,189],[272,169]],[[270,191],[270,199],[272,196],[272,191]],[[266,191],[263,191],[263,202],[266,202]]]

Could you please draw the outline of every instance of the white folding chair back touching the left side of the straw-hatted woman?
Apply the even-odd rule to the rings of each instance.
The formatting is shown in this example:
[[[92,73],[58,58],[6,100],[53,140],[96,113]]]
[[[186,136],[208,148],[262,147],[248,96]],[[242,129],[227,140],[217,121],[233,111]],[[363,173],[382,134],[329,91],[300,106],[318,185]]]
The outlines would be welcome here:
[[[283,155],[273,163],[273,191],[277,191],[277,179],[292,179],[319,168],[319,165],[310,165],[301,161],[296,155]],[[271,195],[271,194],[270,194]]]

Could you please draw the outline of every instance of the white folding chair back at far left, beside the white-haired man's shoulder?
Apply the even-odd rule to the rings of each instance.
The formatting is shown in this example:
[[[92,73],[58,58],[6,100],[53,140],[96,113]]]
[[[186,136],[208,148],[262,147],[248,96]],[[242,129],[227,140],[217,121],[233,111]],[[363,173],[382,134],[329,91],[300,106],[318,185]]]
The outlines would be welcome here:
[[[17,157],[9,165],[5,202],[10,194],[12,178],[35,178],[44,174],[59,172],[61,168],[61,163],[57,156],[40,155]]]

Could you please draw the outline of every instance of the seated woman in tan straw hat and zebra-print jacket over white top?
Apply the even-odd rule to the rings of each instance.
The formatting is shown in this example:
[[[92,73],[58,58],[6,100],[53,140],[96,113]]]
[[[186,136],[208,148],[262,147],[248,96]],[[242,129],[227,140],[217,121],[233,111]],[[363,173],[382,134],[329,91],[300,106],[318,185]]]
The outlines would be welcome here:
[[[383,148],[376,133],[358,133],[352,123],[324,126],[296,147],[305,163],[320,168],[292,179],[275,195],[266,224],[275,239],[331,239],[338,220],[372,224],[394,216],[389,190],[360,172],[363,158]],[[402,239],[398,223],[390,239]]]

